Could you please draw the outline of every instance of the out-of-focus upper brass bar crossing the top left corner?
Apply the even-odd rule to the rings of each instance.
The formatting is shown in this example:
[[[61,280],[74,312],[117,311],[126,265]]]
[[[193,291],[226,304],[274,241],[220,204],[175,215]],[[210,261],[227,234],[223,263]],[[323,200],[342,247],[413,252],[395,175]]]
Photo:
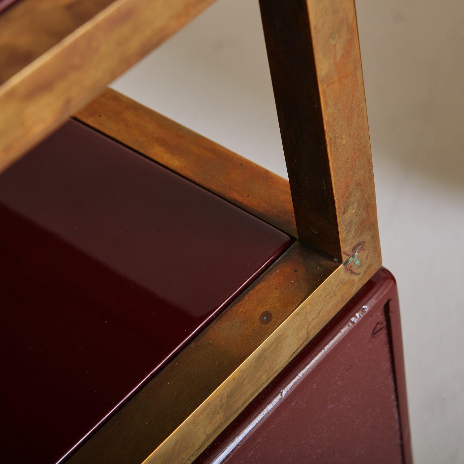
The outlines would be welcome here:
[[[0,172],[213,0],[21,0],[0,16]]]

